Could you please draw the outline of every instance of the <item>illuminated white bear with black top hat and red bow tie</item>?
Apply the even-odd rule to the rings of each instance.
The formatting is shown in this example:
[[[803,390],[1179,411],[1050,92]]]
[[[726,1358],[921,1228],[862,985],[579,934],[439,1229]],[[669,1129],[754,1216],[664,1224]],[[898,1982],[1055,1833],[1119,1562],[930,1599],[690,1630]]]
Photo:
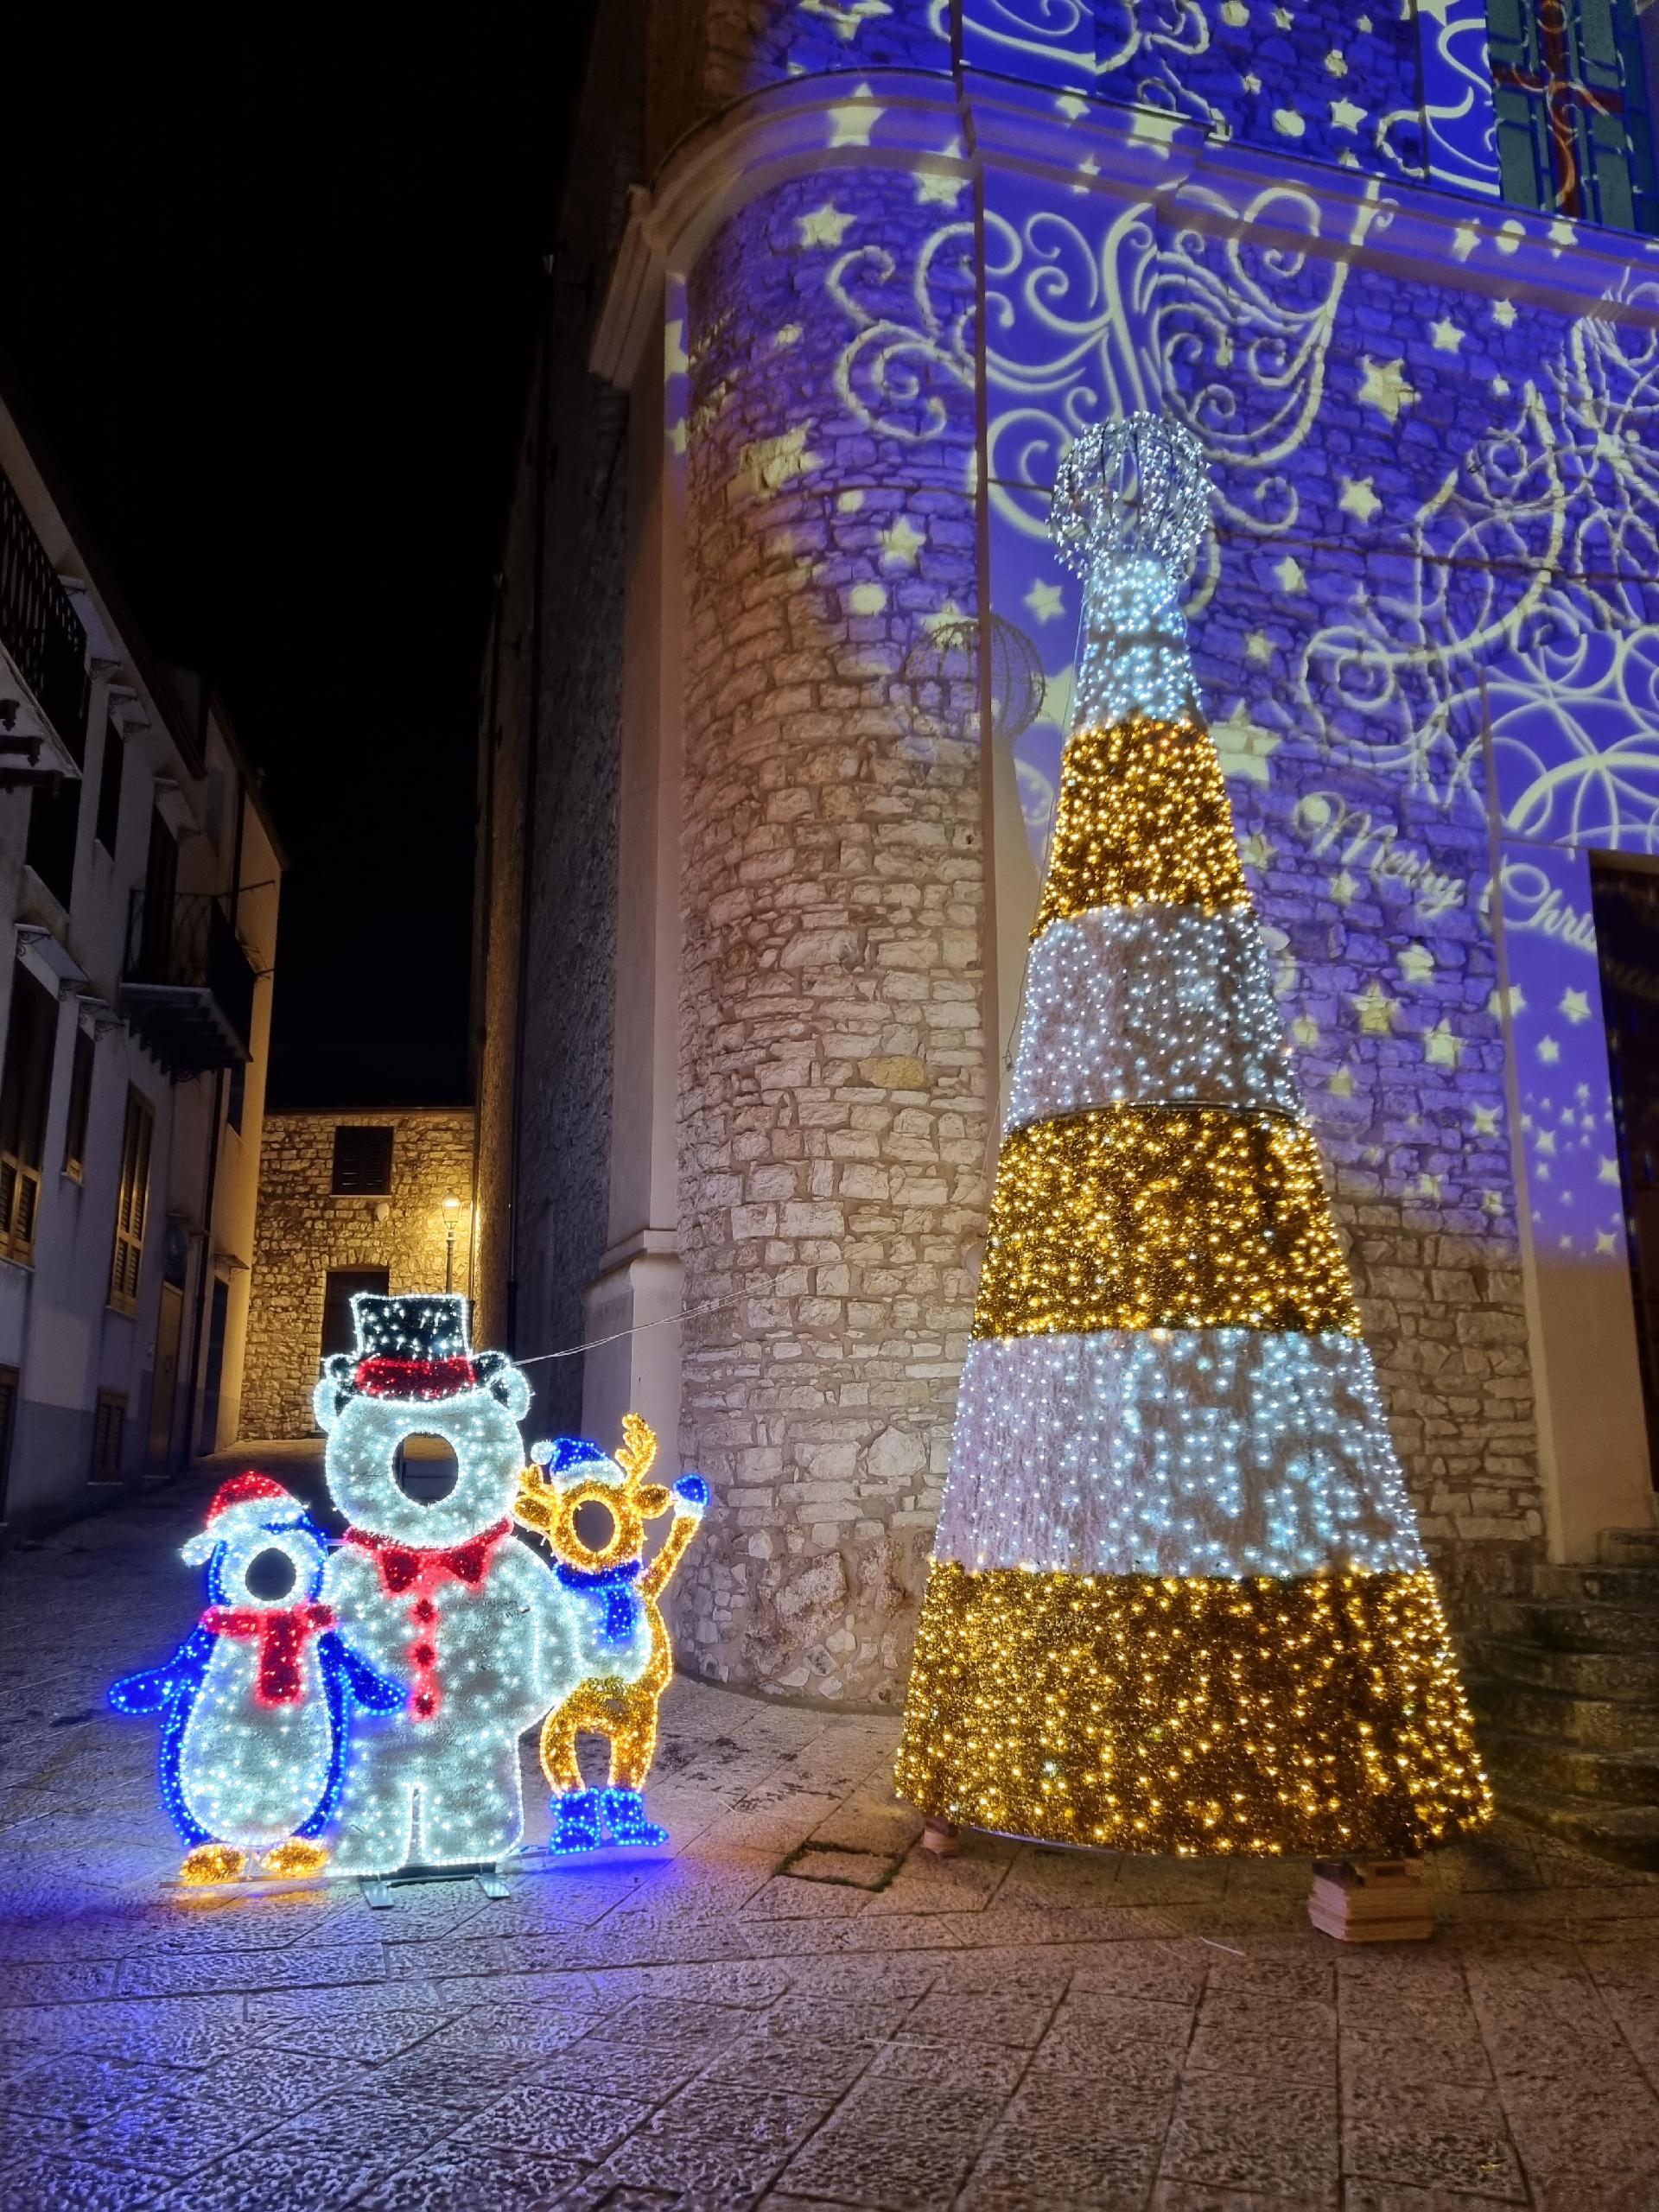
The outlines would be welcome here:
[[[584,1672],[571,1595],[513,1533],[531,1387],[471,1349],[460,1296],[361,1294],[352,1312],[356,1349],[314,1396],[349,1522],[323,1595],[407,1701],[352,1745],[334,1869],[491,1863],[524,1834],[518,1739]],[[411,1438],[453,1451],[447,1493],[405,1458]]]

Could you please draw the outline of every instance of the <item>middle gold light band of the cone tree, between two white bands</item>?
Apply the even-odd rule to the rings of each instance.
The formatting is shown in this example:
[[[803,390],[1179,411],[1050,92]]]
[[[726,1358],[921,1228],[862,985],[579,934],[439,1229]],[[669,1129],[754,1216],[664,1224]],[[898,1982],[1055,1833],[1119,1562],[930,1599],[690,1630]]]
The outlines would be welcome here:
[[[1002,1139],[975,1336],[1358,1325],[1301,1124],[1099,1106]]]

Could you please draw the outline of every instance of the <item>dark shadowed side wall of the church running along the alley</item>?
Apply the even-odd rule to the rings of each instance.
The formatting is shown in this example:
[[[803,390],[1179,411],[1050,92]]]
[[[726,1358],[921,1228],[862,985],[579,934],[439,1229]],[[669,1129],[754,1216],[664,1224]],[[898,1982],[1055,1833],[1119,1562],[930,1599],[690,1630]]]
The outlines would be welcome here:
[[[582,1340],[608,1237],[628,400],[588,345],[641,175],[646,15],[659,69],[661,11],[595,24],[480,688],[480,1325],[522,1356]],[[531,1374],[533,1420],[580,1427],[582,1363]]]

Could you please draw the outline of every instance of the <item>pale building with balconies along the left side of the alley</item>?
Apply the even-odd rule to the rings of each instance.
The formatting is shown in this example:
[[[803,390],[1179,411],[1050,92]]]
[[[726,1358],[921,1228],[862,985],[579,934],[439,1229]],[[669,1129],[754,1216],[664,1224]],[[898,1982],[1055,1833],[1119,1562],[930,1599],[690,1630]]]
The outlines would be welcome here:
[[[283,856],[0,405],[0,1522],[239,1427]]]

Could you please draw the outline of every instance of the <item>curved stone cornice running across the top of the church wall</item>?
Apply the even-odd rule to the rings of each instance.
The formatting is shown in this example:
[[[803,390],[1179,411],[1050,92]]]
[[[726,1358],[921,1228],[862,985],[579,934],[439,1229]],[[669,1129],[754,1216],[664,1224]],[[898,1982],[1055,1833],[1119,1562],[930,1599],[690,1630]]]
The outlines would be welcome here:
[[[856,91],[836,75],[752,93],[684,139],[650,190],[635,188],[595,327],[595,374],[633,383],[664,279],[684,276],[741,206],[792,177],[849,168],[962,181],[1024,173],[1079,201],[1148,201],[1161,221],[1270,250],[1659,327],[1659,239],[1210,137],[1150,108],[1057,100],[973,71],[872,71]]]

